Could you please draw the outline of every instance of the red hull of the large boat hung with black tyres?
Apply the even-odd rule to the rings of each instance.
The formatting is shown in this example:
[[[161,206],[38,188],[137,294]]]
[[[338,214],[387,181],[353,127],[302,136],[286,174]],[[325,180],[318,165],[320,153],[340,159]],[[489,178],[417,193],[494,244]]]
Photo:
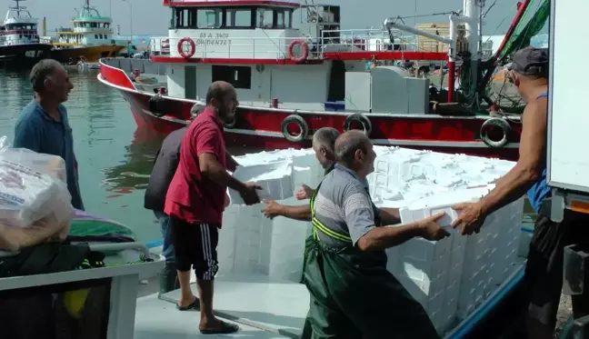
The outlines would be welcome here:
[[[149,108],[149,99],[153,94],[137,91],[123,70],[101,62],[101,74],[97,77],[103,84],[121,91],[131,106],[135,123],[140,130],[168,134],[187,125],[190,121],[190,109],[196,103],[195,100],[170,97],[168,105],[171,114],[156,117]],[[253,147],[255,145],[261,147],[260,149],[308,147],[310,145],[310,140],[293,144],[282,135],[280,126],[288,115],[302,116],[309,125],[311,134],[323,126],[333,126],[342,130],[346,116],[350,115],[348,112],[273,109],[242,105],[238,107],[238,110],[243,124],[226,130],[228,143],[243,145],[244,142],[247,142]],[[491,148],[485,145],[479,136],[481,125],[489,118],[486,115],[366,114],[366,117],[371,120],[374,126],[371,137],[375,145],[396,145],[450,154],[464,153],[499,157],[508,160],[517,160],[518,157],[517,148],[521,135],[521,123],[517,121],[518,119],[509,120],[512,125],[509,143],[503,148]]]

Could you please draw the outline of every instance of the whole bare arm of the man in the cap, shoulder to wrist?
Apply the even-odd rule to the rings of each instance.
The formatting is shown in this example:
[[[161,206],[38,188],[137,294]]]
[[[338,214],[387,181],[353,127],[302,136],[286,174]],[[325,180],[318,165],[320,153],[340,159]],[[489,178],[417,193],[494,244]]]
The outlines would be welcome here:
[[[479,202],[484,214],[491,214],[520,198],[542,175],[546,167],[546,111],[546,98],[536,99],[525,106],[519,160]]]

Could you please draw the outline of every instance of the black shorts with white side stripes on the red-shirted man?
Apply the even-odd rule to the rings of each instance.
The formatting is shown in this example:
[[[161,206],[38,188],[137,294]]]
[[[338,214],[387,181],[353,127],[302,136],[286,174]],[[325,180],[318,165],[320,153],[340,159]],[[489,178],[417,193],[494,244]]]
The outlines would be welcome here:
[[[190,271],[192,266],[197,279],[214,280],[219,269],[216,253],[219,224],[190,224],[170,217],[170,226],[178,271]]]

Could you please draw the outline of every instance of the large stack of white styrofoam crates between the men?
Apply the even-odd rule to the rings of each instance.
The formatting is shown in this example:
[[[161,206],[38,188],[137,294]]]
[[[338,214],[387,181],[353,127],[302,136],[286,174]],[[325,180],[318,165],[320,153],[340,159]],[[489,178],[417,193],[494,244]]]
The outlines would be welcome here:
[[[375,170],[368,183],[375,204],[400,207],[404,224],[437,210],[446,212],[439,223],[452,232],[450,237],[439,242],[416,238],[386,251],[389,271],[424,305],[436,329],[443,333],[457,318],[472,313],[513,272],[522,217],[519,200],[489,215],[479,234],[466,236],[447,227],[457,216],[451,206],[482,197],[493,188],[488,184],[514,164],[397,147],[374,150]],[[301,184],[315,187],[324,176],[312,150],[265,152],[237,160],[248,168],[235,175],[255,172],[248,174],[249,178],[257,178],[267,195],[280,204],[308,204],[308,200],[297,201],[293,194]],[[279,174],[281,168],[289,170]],[[245,206],[235,194],[234,204],[224,214],[221,267],[298,281],[310,223],[266,219],[260,212],[263,204]]]

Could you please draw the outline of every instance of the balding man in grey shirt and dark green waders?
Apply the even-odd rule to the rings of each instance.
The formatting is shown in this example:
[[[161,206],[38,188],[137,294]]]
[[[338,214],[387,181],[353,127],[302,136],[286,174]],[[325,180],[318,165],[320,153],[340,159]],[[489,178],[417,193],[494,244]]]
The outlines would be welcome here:
[[[373,145],[364,133],[335,141],[334,170],[311,197],[314,237],[307,240],[304,284],[311,296],[310,338],[437,339],[424,311],[386,270],[384,250],[414,237],[440,240],[449,234],[436,214],[416,223],[381,226],[366,175],[374,172]]]

